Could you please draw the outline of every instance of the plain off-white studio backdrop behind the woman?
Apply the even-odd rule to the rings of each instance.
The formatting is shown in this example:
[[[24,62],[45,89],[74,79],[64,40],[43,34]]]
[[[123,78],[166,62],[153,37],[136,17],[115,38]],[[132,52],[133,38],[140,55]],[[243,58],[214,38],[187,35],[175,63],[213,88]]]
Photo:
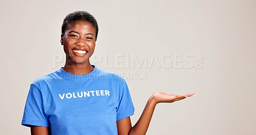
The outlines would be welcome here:
[[[95,63],[110,72],[146,74],[127,79],[136,123],[156,91],[196,93],[196,97],[159,104],[147,134],[256,134],[256,1],[0,1],[0,134],[29,134],[20,125],[29,84],[58,70],[65,57],[61,24],[68,13],[85,10],[99,23]],[[147,54],[175,63],[175,55],[203,56],[203,67],[107,68],[115,55]],[[63,56],[56,62],[54,56]],[[61,57],[59,57],[61,58]],[[120,58],[121,60],[124,57]],[[184,60],[180,56],[179,59]],[[61,60],[61,59],[60,59]],[[57,60],[58,61],[58,60]],[[127,64],[127,61],[118,63]]]

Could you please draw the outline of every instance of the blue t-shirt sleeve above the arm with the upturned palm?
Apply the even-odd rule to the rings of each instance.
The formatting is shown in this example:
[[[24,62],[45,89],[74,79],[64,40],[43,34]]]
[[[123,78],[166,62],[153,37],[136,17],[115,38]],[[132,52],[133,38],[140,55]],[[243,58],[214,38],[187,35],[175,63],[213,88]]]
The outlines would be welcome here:
[[[134,106],[132,104],[131,95],[127,83],[122,80],[120,83],[120,91],[118,94],[118,108],[116,110],[116,120],[122,120],[134,114]]]

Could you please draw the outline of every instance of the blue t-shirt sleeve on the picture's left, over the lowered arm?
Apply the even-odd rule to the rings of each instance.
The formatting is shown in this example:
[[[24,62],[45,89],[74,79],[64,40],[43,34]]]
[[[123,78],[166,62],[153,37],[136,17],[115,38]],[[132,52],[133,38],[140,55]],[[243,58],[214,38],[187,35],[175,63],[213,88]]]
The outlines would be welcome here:
[[[31,84],[26,101],[22,125],[49,127],[49,120],[45,115],[42,92]]]

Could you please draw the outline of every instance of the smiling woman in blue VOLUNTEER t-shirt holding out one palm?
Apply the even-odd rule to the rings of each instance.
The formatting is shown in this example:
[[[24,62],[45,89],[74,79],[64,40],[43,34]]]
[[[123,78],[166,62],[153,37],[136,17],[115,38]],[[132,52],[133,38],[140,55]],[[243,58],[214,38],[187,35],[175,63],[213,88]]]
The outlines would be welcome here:
[[[22,125],[31,127],[31,134],[145,134],[157,103],[195,95],[154,93],[132,127],[134,106],[125,80],[90,64],[98,31],[90,13],[64,19],[65,66],[30,86]]]

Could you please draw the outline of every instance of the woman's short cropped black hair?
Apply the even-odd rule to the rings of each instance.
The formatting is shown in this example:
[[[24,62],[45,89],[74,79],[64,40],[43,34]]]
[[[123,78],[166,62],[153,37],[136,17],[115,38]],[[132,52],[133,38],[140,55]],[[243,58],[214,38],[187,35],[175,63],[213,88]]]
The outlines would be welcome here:
[[[61,34],[65,33],[65,30],[67,29],[68,24],[76,22],[77,20],[84,20],[84,21],[90,22],[96,30],[95,39],[97,39],[98,31],[99,31],[97,20],[90,13],[84,12],[84,11],[77,11],[77,12],[68,14],[67,17],[65,17],[65,19],[63,20],[63,24],[61,26]]]

